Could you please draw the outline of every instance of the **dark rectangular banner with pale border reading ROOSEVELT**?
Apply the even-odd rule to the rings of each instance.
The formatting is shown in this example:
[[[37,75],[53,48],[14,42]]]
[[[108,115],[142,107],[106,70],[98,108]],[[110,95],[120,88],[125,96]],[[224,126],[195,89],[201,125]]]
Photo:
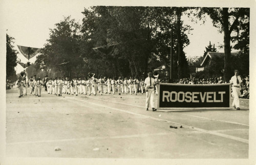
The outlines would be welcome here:
[[[158,109],[229,108],[231,84],[158,85]]]

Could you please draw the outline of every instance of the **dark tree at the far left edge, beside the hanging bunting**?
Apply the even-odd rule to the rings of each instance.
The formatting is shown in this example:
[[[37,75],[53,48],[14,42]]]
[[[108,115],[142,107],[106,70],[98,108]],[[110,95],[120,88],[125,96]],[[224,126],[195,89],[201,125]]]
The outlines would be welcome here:
[[[14,49],[14,38],[6,34],[6,79],[15,81],[17,79],[15,67],[17,66],[17,54]]]

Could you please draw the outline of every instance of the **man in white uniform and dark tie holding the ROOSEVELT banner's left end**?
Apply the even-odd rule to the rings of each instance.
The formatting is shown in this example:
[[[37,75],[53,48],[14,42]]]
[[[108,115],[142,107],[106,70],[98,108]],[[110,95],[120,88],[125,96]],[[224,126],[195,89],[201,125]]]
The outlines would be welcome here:
[[[148,77],[144,81],[144,88],[146,91],[146,111],[148,111],[148,108],[152,107],[152,111],[156,111],[155,108],[155,102],[154,102],[154,85],[156,84],[156,81],[154,78],[152,78],[152,72],[148,72]]]

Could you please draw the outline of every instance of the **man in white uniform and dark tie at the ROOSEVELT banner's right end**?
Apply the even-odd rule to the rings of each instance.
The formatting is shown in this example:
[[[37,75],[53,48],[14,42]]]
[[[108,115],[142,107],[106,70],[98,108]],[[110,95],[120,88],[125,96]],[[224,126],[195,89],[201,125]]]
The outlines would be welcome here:
[[[243,88],[243,81],[242,78],[239,76],[239,71],[234,70],[234,76],[231,77],[230,83],[232,84],[232,91],[233,91],[233,107],[240,110],[240,103],[239,103],[239,96],[240,96],[240,87]]]

